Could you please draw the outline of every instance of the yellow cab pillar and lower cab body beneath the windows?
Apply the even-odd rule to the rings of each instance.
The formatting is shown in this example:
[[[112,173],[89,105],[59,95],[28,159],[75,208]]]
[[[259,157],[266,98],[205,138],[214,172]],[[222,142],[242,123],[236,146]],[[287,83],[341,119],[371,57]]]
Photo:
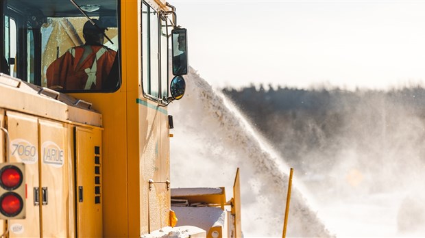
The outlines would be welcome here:
[[[165,1],[148,2],[165,6]],[[143,97],[139,16],[141,1],[121,1],[121,88],[72,94],[102,114],[102,197],[113,204],[103,208],[106,237],[139,237],[169,224],[169,191],[163,183],[170,179],[167,107]],[[149,190],[149,179],[161,183]]]

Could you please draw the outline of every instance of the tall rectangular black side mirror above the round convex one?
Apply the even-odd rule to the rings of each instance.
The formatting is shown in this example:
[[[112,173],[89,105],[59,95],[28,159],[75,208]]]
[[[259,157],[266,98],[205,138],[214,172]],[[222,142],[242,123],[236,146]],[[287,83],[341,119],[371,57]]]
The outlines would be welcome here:
[[[184,28],[171,31],[173,51],[173,75],[187,75],[187,30]]]

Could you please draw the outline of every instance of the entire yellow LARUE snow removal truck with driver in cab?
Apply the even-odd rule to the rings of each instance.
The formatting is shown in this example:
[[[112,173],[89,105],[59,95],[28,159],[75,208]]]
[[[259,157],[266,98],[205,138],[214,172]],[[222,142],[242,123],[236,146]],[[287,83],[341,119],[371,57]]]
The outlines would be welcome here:
[[[241,237],[239,172],[228,201],[171,189],[167,105],[188,71],[173,5],[1,0],[0,14],[3,237]]]

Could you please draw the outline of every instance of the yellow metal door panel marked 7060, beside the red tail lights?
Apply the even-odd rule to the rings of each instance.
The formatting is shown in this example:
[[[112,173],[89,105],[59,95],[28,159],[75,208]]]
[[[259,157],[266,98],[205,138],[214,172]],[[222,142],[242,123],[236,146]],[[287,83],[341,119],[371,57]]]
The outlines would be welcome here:
[[[27,114],[6,111],[10,137],[10,162],[25,163],[25,219],[10,220],[10,237],[40,236],[38,179],[38,119]]]

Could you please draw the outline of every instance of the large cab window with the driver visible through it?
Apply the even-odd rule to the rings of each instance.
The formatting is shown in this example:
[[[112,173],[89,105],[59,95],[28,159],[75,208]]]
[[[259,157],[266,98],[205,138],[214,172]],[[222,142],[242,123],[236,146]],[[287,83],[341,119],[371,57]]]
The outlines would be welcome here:
[[[3,1],[1,72],[65,92],[117,90],[118,7],[117,0]]]

